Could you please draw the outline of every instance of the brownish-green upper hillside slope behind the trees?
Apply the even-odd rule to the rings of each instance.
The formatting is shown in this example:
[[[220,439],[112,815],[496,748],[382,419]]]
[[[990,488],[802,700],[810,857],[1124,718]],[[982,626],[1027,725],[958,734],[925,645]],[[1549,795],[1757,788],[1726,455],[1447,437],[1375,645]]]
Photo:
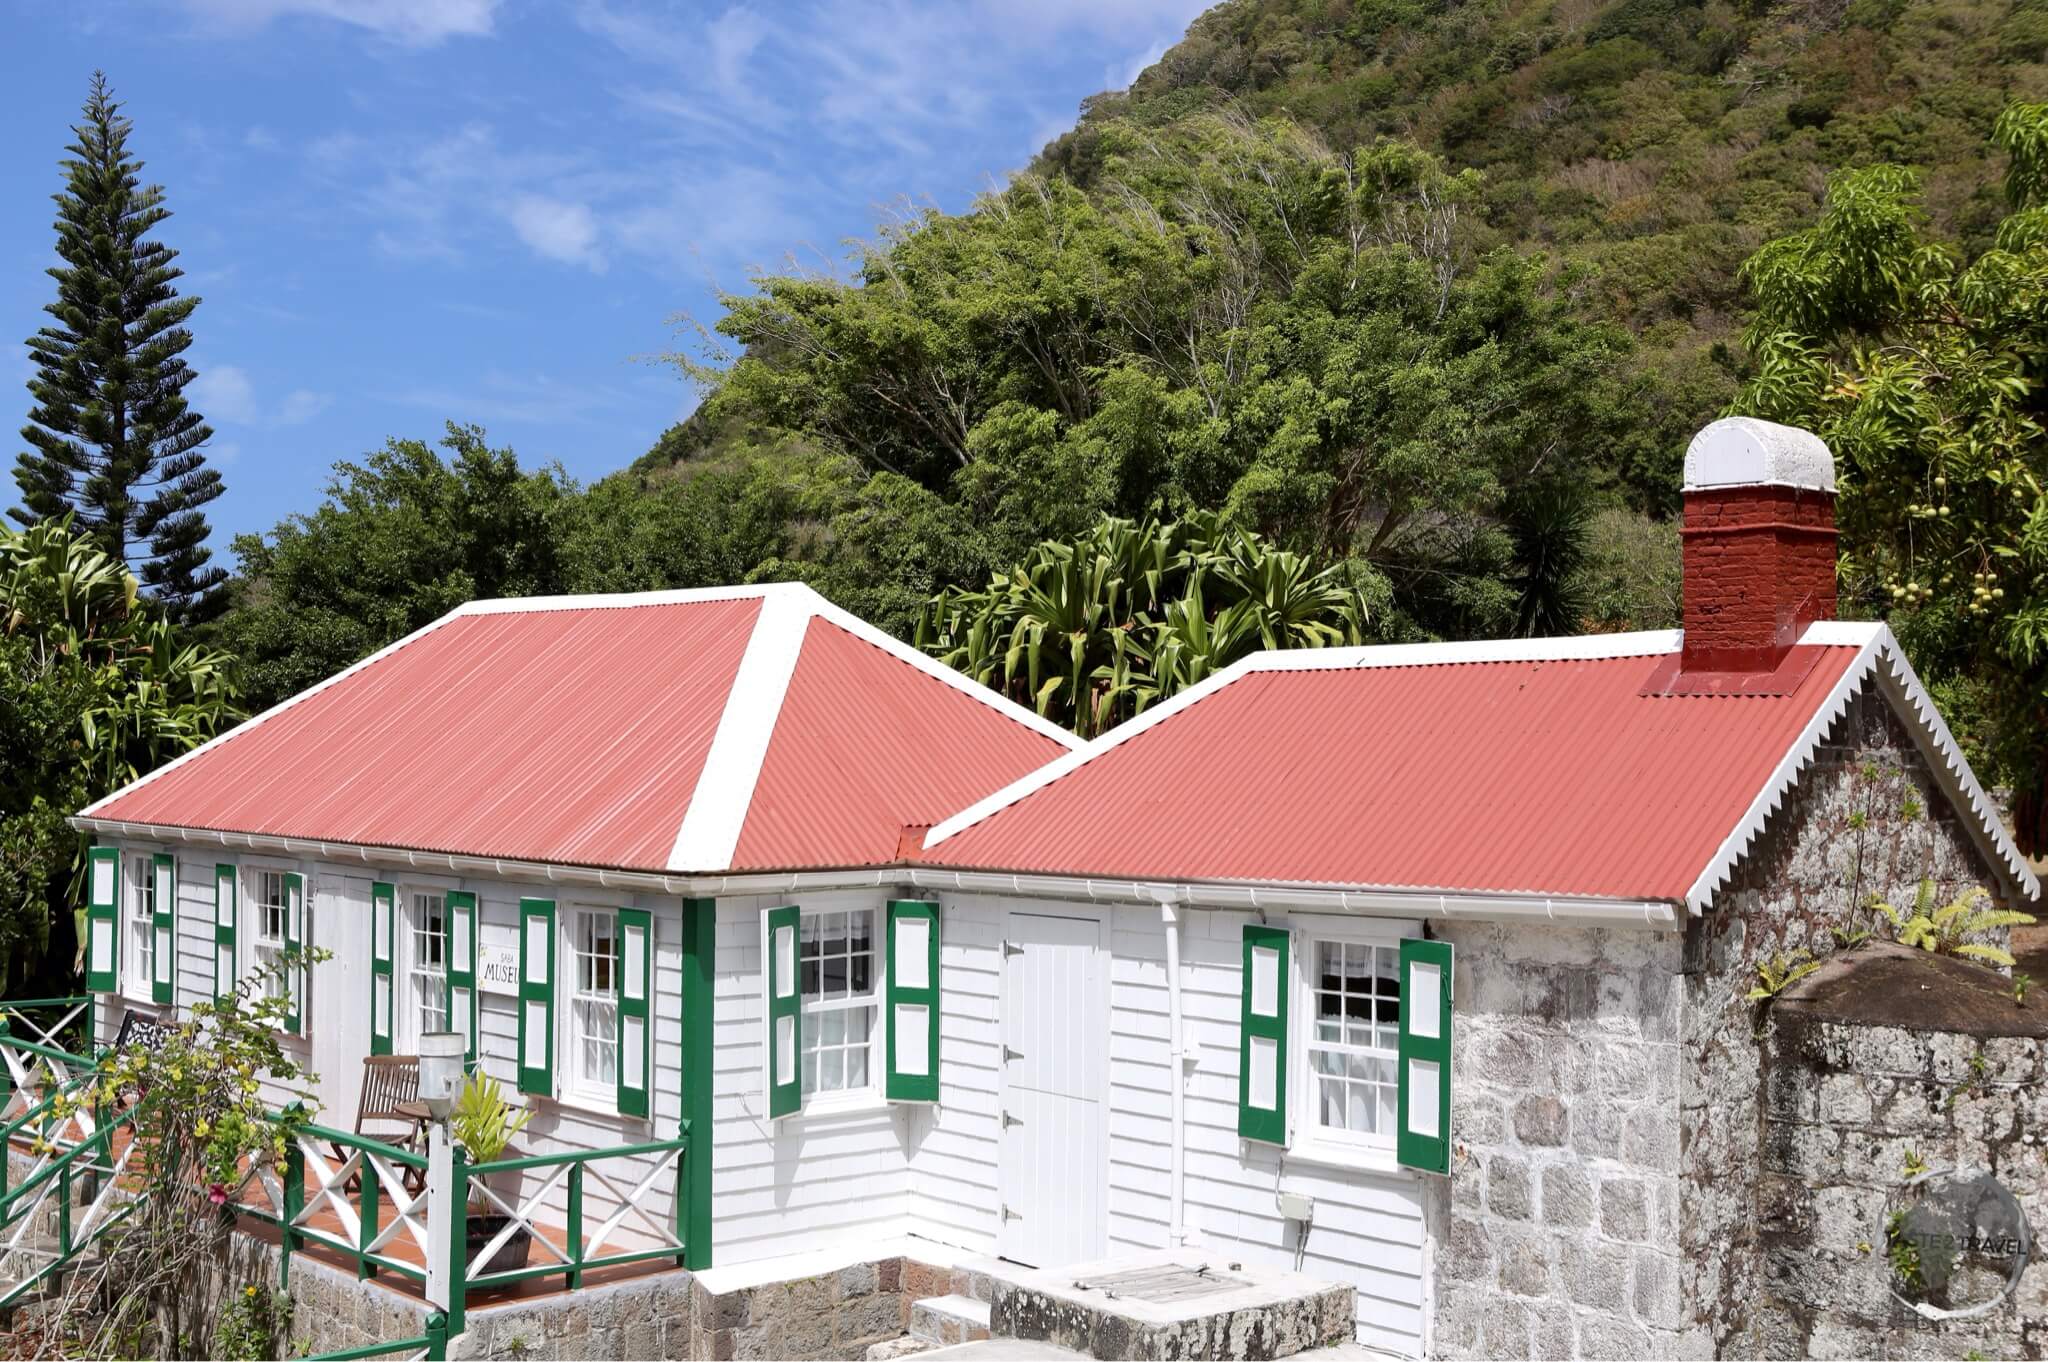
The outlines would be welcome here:
[[[1481,170],[1481,244],[1595,266],[1591,301],[1642,340],[1651,414],[1608,459],[1673,508],[1677,451],[1743,377],[1741,262],[1815,219],[1829,170],[1880,162],[1923,168],[1933,229],[1987,246],[1985,137],[2009,98],[2048,98],[2044,57],[2038,0],[1227,0],[1038,168],[1106,184],[1237,107]]]

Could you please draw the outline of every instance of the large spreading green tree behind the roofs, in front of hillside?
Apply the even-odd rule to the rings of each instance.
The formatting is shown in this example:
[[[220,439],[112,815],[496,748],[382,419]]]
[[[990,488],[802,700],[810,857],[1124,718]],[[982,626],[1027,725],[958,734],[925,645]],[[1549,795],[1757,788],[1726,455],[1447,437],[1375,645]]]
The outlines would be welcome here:
[[[1116,172],[1022,176],[885,233],[854,279],[725,297],[737,352],[709,358],[731,363],[680,360],[700,424],[788,432],[885,504],[881,547],[915,533],[920,582],[842,553],[848,584],[969,586],[1100,516],[1219,510],[1382,578],[1382,635],[1583,623],[1524,619],[1524,584],[1571,576],[1548,555],[1587,487],[1616,492],[1642,406],[1575,270],[1481,250],[1479,180],[1397,141],[1202,115]]]

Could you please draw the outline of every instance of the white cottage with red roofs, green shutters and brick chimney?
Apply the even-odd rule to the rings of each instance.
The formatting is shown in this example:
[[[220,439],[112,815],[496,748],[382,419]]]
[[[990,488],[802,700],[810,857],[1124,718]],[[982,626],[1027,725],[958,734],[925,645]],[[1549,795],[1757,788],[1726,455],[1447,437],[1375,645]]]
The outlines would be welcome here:
[[[694,1268],[1214,1245],[1403,1356],[1710,1348],[1753,963],[2038,893],[1831,504],[1720,422],[1683,631],[1255,655],[1085,748],[797,586],[477,602],[80,815],[100,1024],[332,950],[324,1120],[465,1030],[535,1151],[709,1137]]]

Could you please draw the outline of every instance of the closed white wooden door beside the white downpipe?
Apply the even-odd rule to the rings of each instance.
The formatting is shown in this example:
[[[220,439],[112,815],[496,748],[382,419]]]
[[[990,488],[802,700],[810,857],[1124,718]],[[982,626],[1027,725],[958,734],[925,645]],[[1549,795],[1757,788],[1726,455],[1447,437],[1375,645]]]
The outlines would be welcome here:
[[[1110,991],[1102,924],[1010,913],[995,1251],[1053,1268],[1102,1258]]]

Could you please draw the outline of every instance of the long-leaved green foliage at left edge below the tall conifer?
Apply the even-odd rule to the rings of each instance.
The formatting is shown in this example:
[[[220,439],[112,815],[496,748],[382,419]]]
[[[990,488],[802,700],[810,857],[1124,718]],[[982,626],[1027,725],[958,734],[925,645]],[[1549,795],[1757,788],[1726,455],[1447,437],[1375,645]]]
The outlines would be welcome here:
[[[0,526],[0,989],[68,979],[78,838],[63,819],[238,719],[227,659],[139,600],[70,520]],[[63,991],[63,989],[55,989]]]

